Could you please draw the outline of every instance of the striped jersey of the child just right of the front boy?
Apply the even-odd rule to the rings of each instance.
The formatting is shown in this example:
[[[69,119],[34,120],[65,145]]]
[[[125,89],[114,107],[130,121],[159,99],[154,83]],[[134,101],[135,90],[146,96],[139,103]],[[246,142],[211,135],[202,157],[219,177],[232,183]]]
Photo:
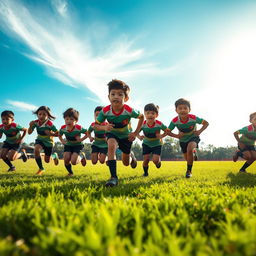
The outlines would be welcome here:
[[[149,147],[156,147],[162,145],[162,140],[157,138],[157,134],[160,134],[160,131],[165,131],[167,127],[160,121],[156,120],[155,123],[150,126],[147,124],[147,121],[143,122],[141,131],[144,133],[143,143]]]

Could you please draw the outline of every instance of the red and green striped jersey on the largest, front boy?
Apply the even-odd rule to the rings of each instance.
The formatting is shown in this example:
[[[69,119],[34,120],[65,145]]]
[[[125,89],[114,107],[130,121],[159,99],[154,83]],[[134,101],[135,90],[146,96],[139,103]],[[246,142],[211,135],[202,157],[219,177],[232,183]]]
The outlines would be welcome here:
[[[126,139],[128,138],[128,134],[132,132],[130,123],[131,118],[139,118],[140,115],[141,114],[139,111],[129,107],[126,104],[119,113],[116,113],[112,109],[112,106],[109,105],[101,110],[96,122],[101,124],[107,120],[110,124],[114,124],[114,128],[108,133],[117,136],[119,139]]]

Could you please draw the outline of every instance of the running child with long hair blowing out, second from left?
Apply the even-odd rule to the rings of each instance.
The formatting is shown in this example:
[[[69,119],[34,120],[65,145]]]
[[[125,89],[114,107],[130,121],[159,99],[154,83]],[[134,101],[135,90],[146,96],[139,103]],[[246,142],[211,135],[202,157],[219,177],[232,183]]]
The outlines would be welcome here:
[[[58,165],[59,158],[58,154],[52,153],[53,150],[53,136],[58,136],[58,131],[54,124],[55,117],[52,115],[51,110],[47,106],[41,106],[33,114],[37,115],[37,120],[29,123],[28,134],[32,134],[34,129],[37,131],[37,138],[35,141],[34,155],[38,166],[36,174],[42,175],[45,171],[41,158],[41,151],[44,151],[44,161],[50,162],[51,156],[54,160],[55,165]]]

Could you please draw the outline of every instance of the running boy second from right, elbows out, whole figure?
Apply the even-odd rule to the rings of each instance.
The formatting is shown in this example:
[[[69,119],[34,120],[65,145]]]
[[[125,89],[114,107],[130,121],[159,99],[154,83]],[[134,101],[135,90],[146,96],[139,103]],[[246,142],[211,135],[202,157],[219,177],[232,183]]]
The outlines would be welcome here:
[[[169,135],[178,138],[183,156],[187,161],[186,178],[192,177],[193,160],[197,160],[196,148],[200,142],[199,135],[208,127],[209,123],[195,115],[189,114],[190,102],[181,98],[175,102],[176,112],[178,114],[170,125],[169,130],[172,131],[175,127],[178,129],[179,134],[169,132]],[[197,130],[196,124],[201,124],[201,129]],[[193,154],[195,154],[193,156]]]

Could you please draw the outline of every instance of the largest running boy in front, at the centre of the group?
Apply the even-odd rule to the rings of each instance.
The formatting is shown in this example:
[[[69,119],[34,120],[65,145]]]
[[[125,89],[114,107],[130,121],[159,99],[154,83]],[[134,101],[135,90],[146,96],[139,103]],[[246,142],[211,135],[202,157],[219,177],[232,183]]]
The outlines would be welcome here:
[[[95,128],[106,131],[108,142],[108,166],[111,173],[110,180],[106,186],[116,186],[118,177],[116,174],[116,159],[115,152],[117,147],[122,151],[122,161],[125,166],[131,164],[132,168],[137,166],[137,161],[134,154],[131,152],[133,140],[138,135],[142,126],[144,116],[139,111],[126,105],[125,102],[129,99],[130,88],[121,80],[112,80],[108,83],[109,100],[111,105],[102,109],[99,113]],[[130,120],[138,118],[137,128],[132,132]],[[107,125],[101,125],[105,120]]]

